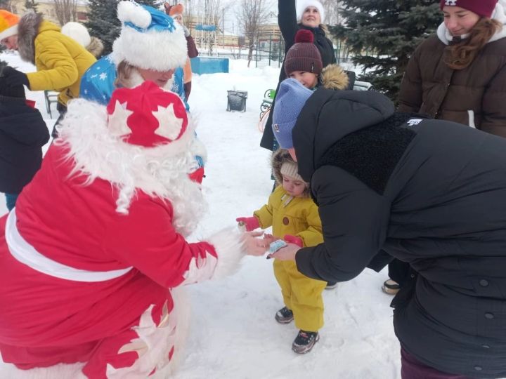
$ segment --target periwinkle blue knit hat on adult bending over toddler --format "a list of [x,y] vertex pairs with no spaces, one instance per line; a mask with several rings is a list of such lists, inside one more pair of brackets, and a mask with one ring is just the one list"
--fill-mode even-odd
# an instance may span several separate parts
[[297,80],[288,78],[281,82],[275,97],[273,113],[273,133],[282,149],[293,147],[292,130],[306,100],[313,91],[304,87]]

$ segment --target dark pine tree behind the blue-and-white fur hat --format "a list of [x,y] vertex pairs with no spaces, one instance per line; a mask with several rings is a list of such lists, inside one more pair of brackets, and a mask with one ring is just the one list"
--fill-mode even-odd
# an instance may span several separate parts
[[[138,0],[137,3],[160,8],[161,1]],[[88,1],[88,21],[84,25],[88,28],[91,36],[96,36],[103,41],[104,55],[112,51],[112,43],[119,36],[121,29],[116,13],[117,4],[118,0]]]

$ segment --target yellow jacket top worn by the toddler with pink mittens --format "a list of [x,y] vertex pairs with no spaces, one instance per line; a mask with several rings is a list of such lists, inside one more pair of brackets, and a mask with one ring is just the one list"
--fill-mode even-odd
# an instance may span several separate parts
[[285,205],[289,197],[283,186],[276,187],[268,203],[253,213],[260,227],[266,229],[272,225],[275,237],[283,238],[285,234],[300,237],[304,247],[323,243],[318,206],[313,199],[294,197]]

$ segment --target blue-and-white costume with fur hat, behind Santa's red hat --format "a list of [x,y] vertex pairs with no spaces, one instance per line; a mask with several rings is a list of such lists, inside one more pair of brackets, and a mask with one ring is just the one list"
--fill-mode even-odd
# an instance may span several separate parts
[[[122,22],[121,34],[112,45],[112,53],[100,58],[84,74],[81,97],[106,105],[116,88],[117,65],[125,60],[143,69],[160,72],[174,69],[172,79],[164,88],[177,93],[184,101],[183,67],[187,47],[183,27],[162,11],[134,1],[119,1],[117,15]],[[130,79],[130,88],[144,81],[136,70]],[[185,105],[188,109],[186,102]]]

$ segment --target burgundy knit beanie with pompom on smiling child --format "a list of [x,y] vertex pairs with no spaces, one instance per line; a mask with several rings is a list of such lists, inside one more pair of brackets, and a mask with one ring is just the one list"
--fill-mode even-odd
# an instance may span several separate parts
[[320,51],[313,44],[313,32],[300,29],[295,34],[295,44],[290,48],[285,57],[285,74],[290,76],[294,71],[312,72],[321,74],[323,63]]

